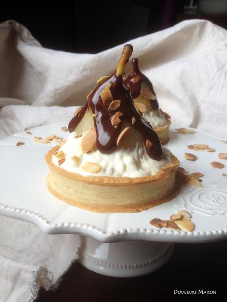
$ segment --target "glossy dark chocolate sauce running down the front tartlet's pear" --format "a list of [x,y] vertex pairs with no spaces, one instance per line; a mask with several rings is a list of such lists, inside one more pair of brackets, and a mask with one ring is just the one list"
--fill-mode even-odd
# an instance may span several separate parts
[[[116,110],[111,110],[109,105],[111,101],[103,103],[100,93],[104,90],[107,83],[111,82],[111,93],[114,100],[120,100],[120,106]],[[127,89],[123,87],[122,75],[117,75],[116,71],[113,75],[101,82],[94,91],[88,97],[88,101],[69,123],[69,132],[73,132],[81,121],[86,111],[92,110],[93,114],[97,114],[94,117],[94,126],[97,134],[96,146],[101,153],[110,153],[116,148],[117,137],[122,131],[120,125],[117,128],[111,124],[111,117],[117,112],[122,112],[120,120],[126,120],[131,127],[142,135],[144,144],[146,146],[146,140],[152,142],[152,148],[146,148],[148,155],[153,159],[158,159],[163,155],[163,149],[158,138],[158,135],[154,132],[151,124],[139,113],[135,107],[134,102]],[[132,125],[132,118],[135,117],[136,121]],[[130,130],[129,130],[130,131]]]

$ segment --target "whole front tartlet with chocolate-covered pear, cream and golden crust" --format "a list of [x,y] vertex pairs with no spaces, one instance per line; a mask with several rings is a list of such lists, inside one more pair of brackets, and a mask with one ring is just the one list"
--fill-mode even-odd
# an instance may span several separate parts
[[48,190],[58,199],[94,212],[139,212],[176,194],[178,159],[123,87],[132,53],[125,45],[114,74],[98,80],[69,123],[65,144],[46,155]]

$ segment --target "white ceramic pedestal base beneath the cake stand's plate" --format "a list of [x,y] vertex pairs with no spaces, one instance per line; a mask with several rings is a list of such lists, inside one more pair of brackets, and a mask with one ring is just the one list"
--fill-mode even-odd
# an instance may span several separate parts
[[163,266],[171,257],[174,244],[153,241],[103,243],[82,236],[79,263],[111,277],[137,277]]

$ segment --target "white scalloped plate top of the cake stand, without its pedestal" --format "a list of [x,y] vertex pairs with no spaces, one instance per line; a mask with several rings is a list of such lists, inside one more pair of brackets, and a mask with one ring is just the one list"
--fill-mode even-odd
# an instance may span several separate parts
[[[213,161],[227,166],[218,158],[227,153],[227,144],[204,132],[179,134],[171,126],[169,148],[189,173],[201,172],[203,188],[183,184],[172,201],[140,213],[93,213],[67,204],[52,196],[46,188],[48,167],[44,155],[57,142],[34,143],[34,136],[56,134],[67,138],[61,127],[67,122],[31,129],[0,141],[0,214],[38,225],[49,234],[80,234],[102,242],[151,240],[163,242],[204,242],[227,238],[227,167],[218,169]],[[24,145],[16,146],[16,143]],[[215,152],[189,150],[187,145],[207,144]],[[185,152],[195,154],[196,161],[184,158]],[[152,218],[168,220],[178,210],[191,213],[193,232],[157,229]]]

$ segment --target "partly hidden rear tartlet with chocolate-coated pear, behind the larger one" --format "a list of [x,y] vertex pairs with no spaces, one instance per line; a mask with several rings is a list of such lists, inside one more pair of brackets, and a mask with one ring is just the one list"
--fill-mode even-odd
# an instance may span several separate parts
[[124,79],[123,84],[130,91],[137,108],[158,134],[161,144],[164,145],[169,141],[170,116],[159,108],[153,85],[140,71],[138,59],[133,58],[131,65],[133,71]]

